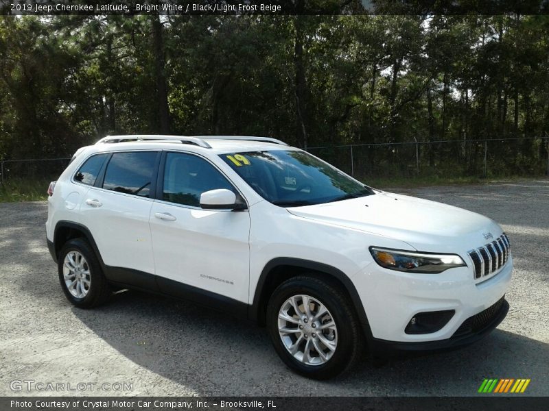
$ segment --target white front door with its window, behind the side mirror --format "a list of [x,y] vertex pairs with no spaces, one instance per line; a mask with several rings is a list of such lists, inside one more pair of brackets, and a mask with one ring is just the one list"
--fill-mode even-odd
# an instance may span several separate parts
[[238,191],[211,162],[191,153],[165,153],[159,173],[150,227],[161,290],[189,297],[198,288],[207,291],[205,301],[211,292],[248,303],[250,215],[202,210],[199,203],[208,190]]

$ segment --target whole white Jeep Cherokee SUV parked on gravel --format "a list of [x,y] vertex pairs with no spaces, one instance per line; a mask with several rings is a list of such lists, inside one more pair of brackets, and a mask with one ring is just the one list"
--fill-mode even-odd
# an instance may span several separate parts
[[272,138],[114,136],[49,187],[47,242],[71,303],[181,297],[266,325],[324,379],[472,343],[505,317],[513,262],[491,219],[375,190]]

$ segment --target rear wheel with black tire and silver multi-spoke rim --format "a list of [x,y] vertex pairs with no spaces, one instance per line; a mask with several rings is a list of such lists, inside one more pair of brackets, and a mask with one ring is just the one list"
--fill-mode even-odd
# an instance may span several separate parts
[[69,240],[62,247],[58,273],[65,296],[77,307],[99,306],[112,294],[97,256],[83,238]]

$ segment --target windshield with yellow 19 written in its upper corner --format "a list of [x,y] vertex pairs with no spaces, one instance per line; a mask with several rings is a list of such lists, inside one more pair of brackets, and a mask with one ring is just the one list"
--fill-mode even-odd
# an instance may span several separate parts
[[305,151],[250,151],[220,157],[257,194],[276,206],[309,206],[373,194],[370,188]]

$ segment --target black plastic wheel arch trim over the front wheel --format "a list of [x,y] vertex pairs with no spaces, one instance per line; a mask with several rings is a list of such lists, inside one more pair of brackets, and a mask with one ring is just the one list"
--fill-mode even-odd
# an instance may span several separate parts
[[372,338],[368,317],[358,292],[351,281],[340,269],[321,262],[302,260],[300,258],[274,258],[261,271],[255,288],[253,303],[248,316],[259,325],[265,325],[266,308],[270,295],[277,286],[287,279],[302,274],[314,274],[320,279],[338,284],[351,298],[353,308],[358,315],[366,340]]

